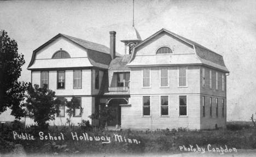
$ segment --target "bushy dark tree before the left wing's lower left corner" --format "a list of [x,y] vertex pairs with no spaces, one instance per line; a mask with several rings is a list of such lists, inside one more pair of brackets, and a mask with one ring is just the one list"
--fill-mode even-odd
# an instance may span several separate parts
[[55,119],[55,113],[59,105],[65,105],[65,101],[55,99],[55,92],[48,89],[48,85],[44,84],[43,88],[39,88],[38,84],[34,84],[34,88],[31,83],[27,89],[28,95],[26,100],[26,108],[30,114],[30,118],[34,119],[34,122],[38,126],[45,128],[48,126],[46,123],[48,120]]

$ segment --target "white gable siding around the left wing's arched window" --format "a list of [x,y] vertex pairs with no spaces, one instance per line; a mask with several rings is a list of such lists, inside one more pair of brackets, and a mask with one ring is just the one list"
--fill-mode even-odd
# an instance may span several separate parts
[[72,41],[60,37],[49,45],[43,47],[36,53],[36,59],[50,59],[53,57],[56,51],[59,51],[60,48],[69,53],[71,58],[75,57],[87,57],[85,49],[77,44],[74,44]]

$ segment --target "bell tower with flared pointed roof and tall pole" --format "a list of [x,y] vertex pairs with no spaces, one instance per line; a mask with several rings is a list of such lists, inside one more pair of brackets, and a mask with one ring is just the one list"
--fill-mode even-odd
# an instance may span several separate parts
[[133,0],[133,16],[132,16],[132,27],[127,31],[126,37],[121,42],[124,43],[125,46],[125,55],[131,55],[133,47],[135,47],[138,43],[140,43],[141,35],[139,35],[137,29],[134,27],[134,0]]

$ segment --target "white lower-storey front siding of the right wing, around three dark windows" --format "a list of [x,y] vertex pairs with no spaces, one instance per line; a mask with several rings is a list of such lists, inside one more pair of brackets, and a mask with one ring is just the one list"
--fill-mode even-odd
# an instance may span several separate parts
[[[142,117],[142,96],[151,96],[152,117]],[[160,117],[160,96],[131,95],[131,106],[121,107],[121,128],[124,129],[200,129],[200,95],[187,95],[188,117],[178,116],[179,95],[169,96],[170,117]],[[136,120],[134,120],[136,119]]]

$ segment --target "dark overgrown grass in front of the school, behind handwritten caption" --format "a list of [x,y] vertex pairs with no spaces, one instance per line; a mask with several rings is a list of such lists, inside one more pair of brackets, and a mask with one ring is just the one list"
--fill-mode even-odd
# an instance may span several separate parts
[[[155,130],[155,131],[111,131],[105,129],[82,129],[80,127],[53,126],[49,130],[43,131],[44,135],[50,133],[51,136],[63,134],[65,140],[39,140],[36,128],[19,127],[12,128],[6,126],[0,131],[0,152],[8,153],[13,149],[13,144],[22,144],[27,154],[144,154],[144,153],[181,153],[179,146],[192,146],[207,148],[208,144],[212,147],[234,147],[236,149],[256,149],[256,130],[249,124],[230,123],[227,129],[219,130],[184,130],[179,129]],[[36,140],[14,140],[13,131],[27,133],[36,136]],[[94,136],[110,137],[111,142],[102,144],[102,141],[73,140],[71,132],[77,135],[88,133]],[[124,139],[136,139],[139,144],[115,141],[114,134],[121,135]]]

